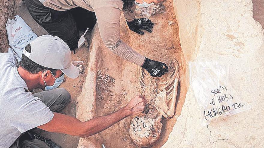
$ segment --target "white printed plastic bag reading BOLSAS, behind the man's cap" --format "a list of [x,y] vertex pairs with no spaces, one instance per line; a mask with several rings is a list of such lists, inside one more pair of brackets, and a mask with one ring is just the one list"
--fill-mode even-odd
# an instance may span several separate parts
[[8,42],[14,52],[21,60],[23,48],[38,36],[29,28],[26,22],[19,16],[15,19],[8,19],[6,26]]

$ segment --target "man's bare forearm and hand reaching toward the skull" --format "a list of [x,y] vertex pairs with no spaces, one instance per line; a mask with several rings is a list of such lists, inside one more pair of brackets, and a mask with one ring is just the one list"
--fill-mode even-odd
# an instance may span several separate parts
[[146,100],[139,96],[131,99],[127,106],[113,112],[110,115],[96,117],[91,120],[81,122],[80,120],[60,113],[54,113],[54,117],[48,123],[38,126],[38,128],[49,132],[64,133],[79,137],[88,137],[101,132],[120,120],[142,112],[145,108]]

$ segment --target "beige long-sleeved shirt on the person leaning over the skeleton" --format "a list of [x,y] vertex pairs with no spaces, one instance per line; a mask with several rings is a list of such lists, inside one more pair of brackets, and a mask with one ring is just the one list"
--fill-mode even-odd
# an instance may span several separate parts
[[[123,8],[122,0],[40,0],[43,5],[54,10],[65,11],[82,7],[95,12],[101,38],[107,48],[119,57],[142,66],[145,57],[134,51],[120,39],[120,16]],[[135,18],[133,11],[124,12],[125,18],[131,22]]]

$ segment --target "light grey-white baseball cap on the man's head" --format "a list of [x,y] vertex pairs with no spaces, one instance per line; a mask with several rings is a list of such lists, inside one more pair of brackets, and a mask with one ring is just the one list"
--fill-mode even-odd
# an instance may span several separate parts
[[61,70],[66,76],[75,79],[79,70],[71,63],[69,46],[58,36],[43,35],[30,42],[31,53],[24,48],[24,55],[33,62],[52,69]]

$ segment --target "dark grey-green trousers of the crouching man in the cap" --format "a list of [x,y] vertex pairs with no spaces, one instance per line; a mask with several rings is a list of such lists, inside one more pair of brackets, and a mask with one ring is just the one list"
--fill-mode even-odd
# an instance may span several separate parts
[[[60,111],[70,102],[70,93],[63,88],[41,91],[32,95],[40,98],[52,112]],[[9,148],[49,148],[44,141],[38,139],[25,141],[21,139],[23,139],[23,135],[21,135]]]

